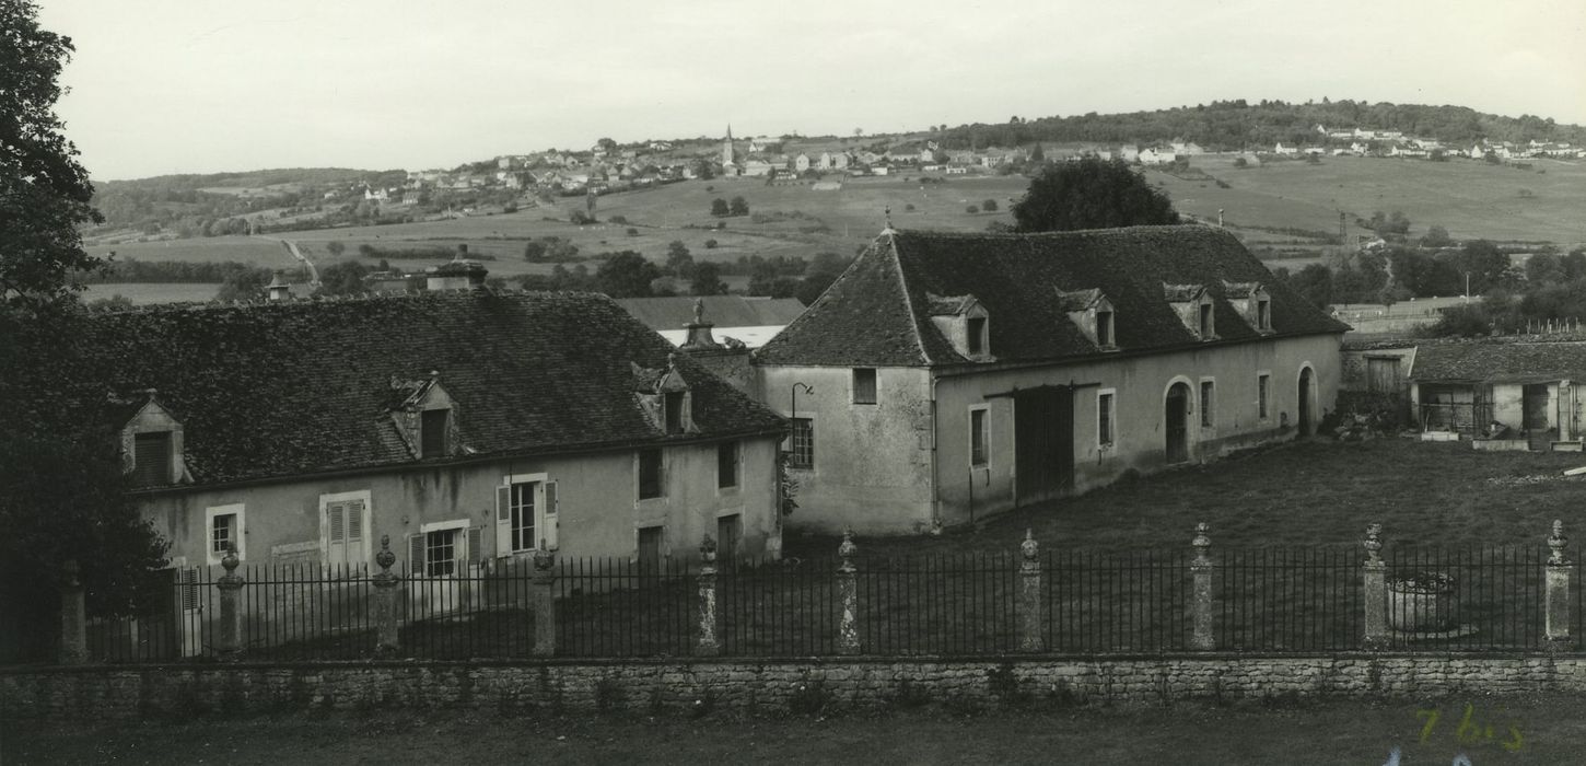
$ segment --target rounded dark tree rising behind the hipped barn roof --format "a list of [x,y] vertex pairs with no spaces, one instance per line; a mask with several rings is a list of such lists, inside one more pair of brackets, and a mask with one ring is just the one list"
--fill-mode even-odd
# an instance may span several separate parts
[[1013,203],[1013,220],[1020,232],[1074,232],[1177,224],[1178,214],[1123,160],[1085,157],[1042,170]]

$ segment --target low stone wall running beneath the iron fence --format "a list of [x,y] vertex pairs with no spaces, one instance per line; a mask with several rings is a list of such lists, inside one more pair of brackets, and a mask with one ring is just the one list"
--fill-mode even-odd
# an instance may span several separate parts
[[146,718],[341,709],[812,710],[999,699],[1435,698],[1586,691],[1586,655],[842,658],[316,663],[0,671],[0,718]]

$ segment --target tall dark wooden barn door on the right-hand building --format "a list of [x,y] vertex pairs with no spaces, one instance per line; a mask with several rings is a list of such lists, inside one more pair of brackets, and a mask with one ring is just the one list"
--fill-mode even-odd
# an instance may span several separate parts
[[1074,389],[1013,393],[1013,460],[1017,504],[1074,488]]

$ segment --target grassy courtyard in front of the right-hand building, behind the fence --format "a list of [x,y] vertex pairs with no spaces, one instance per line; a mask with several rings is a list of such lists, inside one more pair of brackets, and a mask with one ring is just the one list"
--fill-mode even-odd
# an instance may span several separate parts
[[[972,530],[858,542],[874,555],[1012,553],[1029,528],[1044,549],[1188,550],[1194,525],[1205,522],[1213,546],[1351,546],[1375,522],[1389,546],[1542,546],[1554,519],[1586,542],[1586,476],[1564,476],[1583,465],[1580,454],[1477,452],[1469,442],[1308,439],[1124,481]],[[790,533],[785,549],[831,555],[836,546]]]

